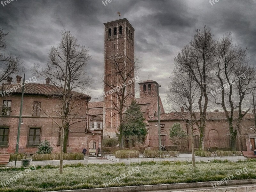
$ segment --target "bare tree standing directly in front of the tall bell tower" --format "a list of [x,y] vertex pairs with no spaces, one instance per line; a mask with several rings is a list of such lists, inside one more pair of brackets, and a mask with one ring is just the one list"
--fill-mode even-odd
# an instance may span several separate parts
[[[103,83],[105,90],[108,90],[105,95],[105,101],[110,101],[116,113],[113,116],[118,116],[120,125],[119,131],[119,148],[123,148],[124,136],[124,114],[127,107],[134,100],[134,73],[139,69],[139,59],[134,61],[126,59],[123,55],[113,56],[110,58],[112,68],[107,69],[104,75]],[[110,74],[110,75],[107,75]],[[111,77],[111,78],[109,78]],[[113,117],[112,116],[112,117]]]

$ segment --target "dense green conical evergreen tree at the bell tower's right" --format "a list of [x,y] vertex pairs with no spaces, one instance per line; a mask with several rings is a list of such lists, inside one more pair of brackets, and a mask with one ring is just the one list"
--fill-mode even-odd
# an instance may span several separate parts
[[139,104],[135,100],[132,100],[130,107],[126,110],[124,115],[124,136],[146,136],[148,130],[144,120],[145,118],[140,111]]

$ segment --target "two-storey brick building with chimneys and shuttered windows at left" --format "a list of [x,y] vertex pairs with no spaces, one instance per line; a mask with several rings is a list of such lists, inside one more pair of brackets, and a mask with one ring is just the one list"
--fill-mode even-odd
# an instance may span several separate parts
[[[17,76],[16,83],[12,84],[12,78],[8,78],[7,84],[0,86],[2,92],[17,86],[21,80],[21,77]],[[46,84],[29,83],[24,86],[19,152],[34,153],[38,144],[45,139],[51,142],[54,152],[60,151],[58,124],[61,123],[61,118],[57,113],[60,100],[53,97],[58,95],[59,89],[49,84],[49,80],[46,82]],[[15,152],[21,92],[20,87],[11,94],[0,97],[0,103],[3,104],[0,108],[0,153]],[[100,143],[100,132],[92,132],[87,127],[86,108],[90,99],[90,96],[83,94],[79,100],[83,106],[79,106],[77,123],[70,126],[67,152],[81,152],[84,147],[93,148],[95,144],[98,147]]]

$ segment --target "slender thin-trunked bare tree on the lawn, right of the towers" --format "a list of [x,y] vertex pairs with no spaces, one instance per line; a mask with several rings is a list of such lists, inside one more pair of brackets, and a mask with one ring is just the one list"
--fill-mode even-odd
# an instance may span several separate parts
[[[192,145],[192,163],[195,165],[195,149],[194,149],[194,131],[199,128],[198,121],[194,112],[198,110],[197,102],[200,98],[200,89],[198,83],[193,80],[193,75],[190,71],[193,65],[193,55],[190,52],[190,47],[186,45],[181,52],[174,58],[175,68],[172,72],[171,83],[169,84],[166,93],[167,102],[173,107],[183,107],[186,114],[175,113],[191,129],[191,145]],[[187,68],[183,68],[187,66]],[[189,115],[188,115],[189,114]]]

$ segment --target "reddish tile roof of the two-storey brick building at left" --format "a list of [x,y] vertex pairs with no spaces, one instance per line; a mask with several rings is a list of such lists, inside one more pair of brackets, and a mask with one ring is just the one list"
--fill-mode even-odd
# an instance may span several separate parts
[[[16,88],[15,88],[16,86]],[[2,85],[0,86],[0,92],[4,92],[6,90],[10,90],[11,88],[17,89],[13,90],[12,94],[20,94],[22,93],[21,84],[10,84],[10,85]],[[75,92],[74,92],[75,93]],[[28,83],[24,86],[24,94],[33,94],[33,95],[60,95],[60,87],[55,85],[46,85],[46,84],[38,84],[38,83]],[[88,97],[91,99],[89,95],[82,94],[84,97]]]

